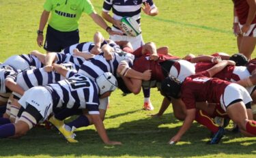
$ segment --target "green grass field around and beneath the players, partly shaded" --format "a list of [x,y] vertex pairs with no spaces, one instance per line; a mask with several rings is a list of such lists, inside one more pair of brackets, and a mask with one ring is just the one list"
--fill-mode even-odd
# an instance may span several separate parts
[[[169,46],[171,54],[211,54],[238,52],[232,34],[233,3],[231,0],[154,0],[159,15],[142,14],[145,42]],[[36,44],[44,0],[0,0],[0,62],[12,54],[40,50]],[[100,14],[102,0],[92,0]],[[81,42],[92,41],[95,31],[89,16],[80,20]],[[254,52],[255,53],[255,52]],[[256,57],[253,54],[253,57]],[[171,108],[160,118],[148,114],[158,112],[162,96],[152,89],[154,111],[144,111],[143,95],[122,96],[117,90],[111,96],[111,108],[104,124],[111,140],[122,146],[106,146],[94,127],[76,132],[78,144],[67,144],[55,129],[35,128],[20,139],[0,140],[0,157],[256,157],[255,138],[242,138],[227,131],[222,142],[206,144],[210,132],[194,123],[193,127],[175,146],[167,144],[182,125]]]

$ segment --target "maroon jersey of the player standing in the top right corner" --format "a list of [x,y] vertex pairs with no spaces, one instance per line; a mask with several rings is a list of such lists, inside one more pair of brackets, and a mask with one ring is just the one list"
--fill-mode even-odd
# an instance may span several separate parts
[[[246,0],[233,0],[234,7],[236,9],[236,14],[238,15],[238,20],[241,25],[246,23],[248,16],[249,5]],[[251,24],[256,23],[256,16]]]

